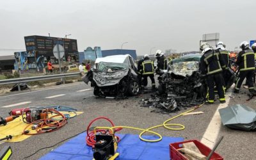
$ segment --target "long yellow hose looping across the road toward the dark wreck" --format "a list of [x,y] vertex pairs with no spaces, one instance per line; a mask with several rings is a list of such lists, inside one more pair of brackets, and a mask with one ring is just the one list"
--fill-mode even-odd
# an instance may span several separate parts
[[[171,120],[175,119],[175,118],[178,118],[179,116],[182,116],[186,113],[189,113],[191,111],[194,111],[195,109],[197,108],[200,108],[201,106],[203,106],[204,104],[201,104],[200,106],[195,106],[193,109],[190,109],[184,113],[180,113],[179,115],[177,116],[173,116],[172,118],[166,120],[163,122],[163,124],[161,125],[156,125],[156,126],[153,126],[153,127],[150,127],[148,129],[141,129],[141,128],[137,128],[137,127],[129,127],[129,126],[115,126],[115,127],[95,127],[94,131],[96,131],[96,129],[109,129],[111,130],[112,132],[114,131],[115,128],[125,128],[125,129],[135,129],[135,130],[139,130],[139,131],[142,131],[140,133],[140,140],[141,141],[147,141],[147,142],[157,142],[157,141],[161,141],[163,139],[163,136],[161,136],[161,134],[157,133],[157,132],[154,132],[154,131],[150,131],[152,129],[156,129],[158,127],[164,127],[166,129],[169,129],[169,130],[172,130],[172,131],[179,131],[179,130],[182,130],[182,129],[185,129],[185,126],[182,125],[182,124],[167,124],[168,122],[170,122]],[[173,127],[168,127],[168,126],[179,126],[180,128],[173,128]],[[146,140],[144,138],[142,138],[142,135],[145,133],[145,132],[150,132],[152,134],[155,134],[156,136],[158,136],[159,138],[157,140]]]

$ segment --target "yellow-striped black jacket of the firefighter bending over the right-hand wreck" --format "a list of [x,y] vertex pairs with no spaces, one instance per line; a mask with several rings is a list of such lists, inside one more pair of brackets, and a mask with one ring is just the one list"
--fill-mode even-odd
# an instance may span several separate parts
[[225,65],[220,52],[216,52],[213,49],[205,52],[200,61],[200,70],[202,74],[207,75],[222,72],[221,66]]

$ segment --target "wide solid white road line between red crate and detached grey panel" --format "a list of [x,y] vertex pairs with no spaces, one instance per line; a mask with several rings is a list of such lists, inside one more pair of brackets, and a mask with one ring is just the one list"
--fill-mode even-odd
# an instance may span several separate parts
[[[218,138],[218,134],[220,132],[220,127],[221,127],[221,117],[219,113],[219,109],[221,108],[226,108],[228,106],[231,92],[226,94],[226,102],[224,104],[220,104],[218,108],[216,109],[214,115],[212,116],[212,120],[210,124],[208,125],[204,136],[201,140],[202,143],[204,143],[207,147],[213,148],[214,144]],[[211,106],[210,106],[211,107]]]

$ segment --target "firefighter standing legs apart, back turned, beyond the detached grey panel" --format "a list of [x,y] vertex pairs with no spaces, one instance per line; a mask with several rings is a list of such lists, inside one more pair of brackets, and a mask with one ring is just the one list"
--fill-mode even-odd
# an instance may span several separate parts
[[239,65],[239,78],[236,82],[234,93],[239,93],[241,84],[246,77],[250,92],[254,92],[253,76],[255,72],[255,53],[249,48],[249,43],[244,41],[240,44],[242,51],[237,56],[237,65]]

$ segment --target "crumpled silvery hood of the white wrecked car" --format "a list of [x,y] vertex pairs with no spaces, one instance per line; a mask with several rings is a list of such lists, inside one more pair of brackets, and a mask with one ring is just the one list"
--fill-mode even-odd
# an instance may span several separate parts
[[97,86],[112,86],[118,84],[120,80],[126,76],[129,68],[124,70],[116,70],[113,72],[97,72],[93,71],[93,80]]

